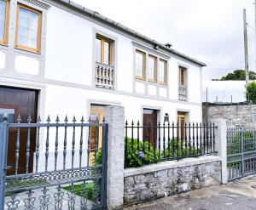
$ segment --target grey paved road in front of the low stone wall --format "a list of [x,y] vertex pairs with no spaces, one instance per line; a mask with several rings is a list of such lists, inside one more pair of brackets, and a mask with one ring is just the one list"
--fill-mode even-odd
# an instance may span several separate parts
[[256,177],[169,196],[126,210],[256,210]]

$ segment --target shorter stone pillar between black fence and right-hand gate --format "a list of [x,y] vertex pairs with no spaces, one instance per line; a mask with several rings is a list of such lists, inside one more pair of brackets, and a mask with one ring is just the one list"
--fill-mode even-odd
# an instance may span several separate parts
[[227,122],[224,119],[212,120],[218,127],[215,129],[215,145],[217,156],[221,157],[221,176],[222,184],[228,183],[228,168],[227,168]]

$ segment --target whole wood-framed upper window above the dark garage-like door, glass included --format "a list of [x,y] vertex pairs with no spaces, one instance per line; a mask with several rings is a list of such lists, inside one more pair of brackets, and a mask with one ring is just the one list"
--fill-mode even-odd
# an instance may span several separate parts
[[42,13],[18,4],[16,21],[16,48],[40,52]]

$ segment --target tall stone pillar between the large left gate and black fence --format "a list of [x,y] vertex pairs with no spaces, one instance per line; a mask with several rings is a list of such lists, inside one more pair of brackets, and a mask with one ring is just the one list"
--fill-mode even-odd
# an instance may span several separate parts
[[108,209],[123,207],[125,162],[125,110],[123,106],[109,105],[105,109],[108,123]]

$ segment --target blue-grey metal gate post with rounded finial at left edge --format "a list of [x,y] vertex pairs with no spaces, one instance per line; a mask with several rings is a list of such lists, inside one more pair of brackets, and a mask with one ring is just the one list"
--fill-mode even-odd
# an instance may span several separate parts
[[3,122],[0,123],[0,209],[4,209],[5,199],[5,168],[7,161],[8,144],[8,115],[3,114]]

